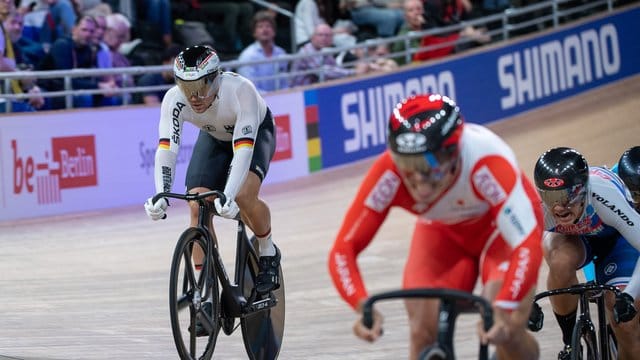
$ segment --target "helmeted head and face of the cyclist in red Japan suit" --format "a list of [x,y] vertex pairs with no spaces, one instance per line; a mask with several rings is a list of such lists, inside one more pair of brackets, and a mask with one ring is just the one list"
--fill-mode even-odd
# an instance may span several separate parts
[[396,105],[389,118],[388,144],[400,170],[437,182],[455,170],[464,121],[450,98],[415,95]]

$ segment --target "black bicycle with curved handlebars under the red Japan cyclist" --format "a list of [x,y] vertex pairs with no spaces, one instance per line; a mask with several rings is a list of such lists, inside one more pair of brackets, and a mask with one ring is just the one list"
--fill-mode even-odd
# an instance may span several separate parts
[[[420,352],[418,356],[420,360],[454,360],[456,358],[453,339],[456,319],[460,314],[479,313],[485,331],[493,326],[493,309],[487,299],[468,292],[443,288],[402,289],[370,296],[362,308],[362,323],[369,329],[373,326],[374,303],[399,298],[440,299],[437,339],[434,344],[427,346]],[[489,359],[487,344],[480,344],[478,359]]]

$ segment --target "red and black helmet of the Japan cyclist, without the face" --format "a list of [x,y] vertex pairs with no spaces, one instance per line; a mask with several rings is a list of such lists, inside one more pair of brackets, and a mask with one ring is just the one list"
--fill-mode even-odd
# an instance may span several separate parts
[[457,147],[462,126],[453,100],[437,94],[412,96],[391,113],[389,148],[398,155],[418,155]]

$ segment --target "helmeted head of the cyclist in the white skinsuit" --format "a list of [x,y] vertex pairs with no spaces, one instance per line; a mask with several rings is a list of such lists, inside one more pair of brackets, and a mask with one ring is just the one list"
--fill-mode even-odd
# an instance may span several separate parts
[[206,98],[218,91],[220,58],[209,46],[191,46],[181,51],[173,64],[176,84],[186,97]]

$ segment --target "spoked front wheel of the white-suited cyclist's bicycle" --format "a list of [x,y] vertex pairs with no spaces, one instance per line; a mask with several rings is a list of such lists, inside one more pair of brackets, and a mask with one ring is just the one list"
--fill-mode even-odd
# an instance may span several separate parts
[[[194,246],[205,252],[201,270],[191,258]],[[169,279],[171,331],[180,358],[208,360],[220,329],[218,279],[202,234],[187,229],[176,244]]]

